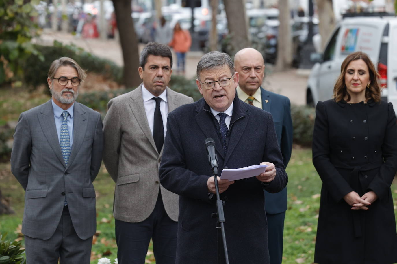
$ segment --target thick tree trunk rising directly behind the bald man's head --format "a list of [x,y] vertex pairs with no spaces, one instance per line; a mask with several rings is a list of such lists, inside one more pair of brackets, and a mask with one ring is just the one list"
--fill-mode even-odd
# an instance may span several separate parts
[[245,0],[224,1],[227,18],[227,28],[231,35],[230,56],[251,46],[251,39],[248,34],[247,13],[245,11]]

